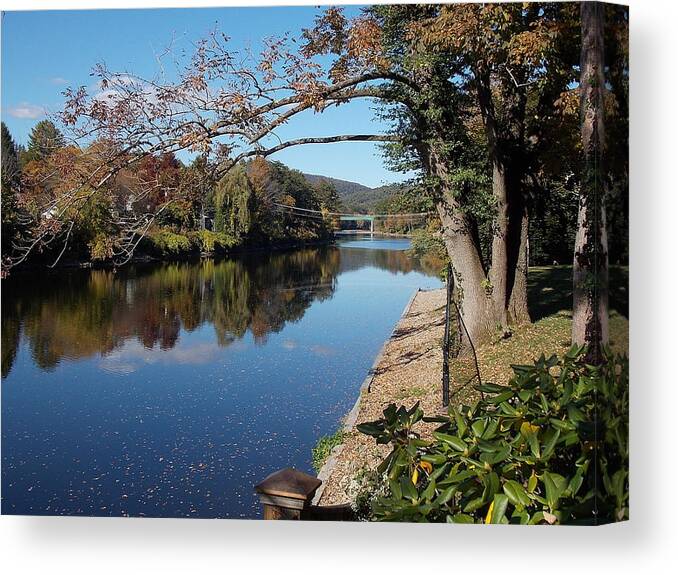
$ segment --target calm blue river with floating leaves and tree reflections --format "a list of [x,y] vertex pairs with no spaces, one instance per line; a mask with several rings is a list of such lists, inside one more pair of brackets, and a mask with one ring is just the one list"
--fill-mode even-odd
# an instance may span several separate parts
[[353,405],[408,240],[2,280],[2,512],[257,517]]

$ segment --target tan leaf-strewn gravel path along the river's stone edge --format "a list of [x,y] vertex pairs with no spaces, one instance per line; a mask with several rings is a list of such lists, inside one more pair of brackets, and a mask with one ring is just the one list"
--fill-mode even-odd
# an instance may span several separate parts
[[375,467],[388,454],[387,447],[355,431],[354,423],[380,418],[389,403],[410,407],[419,401],[426,414],[440,411],[444,317],[445,289],[417,292],[386,342],[356,410],[349,414],[343,445],[334,449],[318,474],[323,486],[317,503],[348,502],[356,472]]

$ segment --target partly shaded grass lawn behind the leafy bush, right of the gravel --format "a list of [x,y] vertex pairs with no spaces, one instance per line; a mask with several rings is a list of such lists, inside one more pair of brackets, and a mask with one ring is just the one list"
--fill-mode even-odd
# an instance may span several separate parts
[[[570,348],[572,331],[572,266],[531,267],[528,302],[533,323],[517,327],[505,340],[480,346],[478,366],[483,382],[506,383],[513,375],[511,365],[527,364],[542,353],[562,354]],[[610,269],[610,345],[628,353],[628,268]],[[450,363],[452,402],[472,399],[471,386],[462,388],[475,374],[472,358]],[[452,382],[451,382],[452,383]],[[455,389],[456,388],[456,389]]]

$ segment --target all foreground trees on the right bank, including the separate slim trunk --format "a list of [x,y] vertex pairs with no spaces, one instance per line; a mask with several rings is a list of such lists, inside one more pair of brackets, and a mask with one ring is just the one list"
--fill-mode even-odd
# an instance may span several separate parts
[[[627,253],[626,7],[371,6],[352,18],[331,7],[297,36],[267,39],[260,54],[238,53],[215,32],[175,82],[105,65],[94,73],[108,100],[69,89],[61,119],[74,138],[112,145],[54,203],[57,217],[34,228],[30,249],[67,239],[69,209],[96,202],[139,157],[190,149],[212,159],[217,179],[236,179],[244,162],[292,146],[382,142],[388,164],[414,170],[416,193],[438,214],[467,340],[530,321],[531,244],[564,233],[575,240],[573,341],[600,357],[609,254],[623,263]],[[302,112],[362,98],[380,103],[387,132],[272,137]],[[129,250],[147,222],[121,226],[113,244]]]

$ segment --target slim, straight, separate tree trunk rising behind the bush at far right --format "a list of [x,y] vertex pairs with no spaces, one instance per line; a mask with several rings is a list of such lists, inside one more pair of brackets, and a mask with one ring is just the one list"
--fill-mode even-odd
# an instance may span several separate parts
[[604,5],[582,2],[581,138],[584,153],[574,246],[572,342],[587,345],[589,362],[602,361],[608,341],[607,223],[603,179]]

